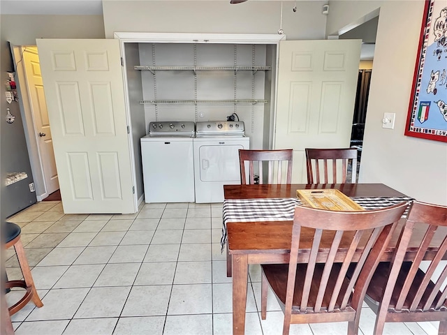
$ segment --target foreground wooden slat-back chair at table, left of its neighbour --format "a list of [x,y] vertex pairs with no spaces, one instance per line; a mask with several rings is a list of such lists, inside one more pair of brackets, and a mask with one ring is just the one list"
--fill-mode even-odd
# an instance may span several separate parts
[[[402,202],[372,211],[297,206],[288,264],[261,265],[261,318],[267,315],[270,285],[284,312],[283,334],[295,323],[343,321],[349,322],[348,334],[357,334],[356,315],[368,281],[407,206]],[[312,248],[298,254],[304,240],[312,241]],[[352,262],[356,267],[349,280]]]

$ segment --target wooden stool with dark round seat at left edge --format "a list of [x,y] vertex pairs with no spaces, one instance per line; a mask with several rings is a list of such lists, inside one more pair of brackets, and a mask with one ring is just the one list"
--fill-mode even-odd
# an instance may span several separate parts
[[28,261],[25,256],[22,240],[20,239],[20,226],[15,223],[3,222],[2,223],[3,234],[6,240],[6,249],[14,246],[17,259],[19,260],[20,269],[22,270],[22,281],[6,281],[5,288],[24,288],[27,290],[25,295],[17,301],[16,304],[8,308],[9,314],[13,315],[20,311],[28,302],[32,299],[34,304],[38,307],[42,307],[41,298],[39,298],[36,286],[34,286],[33,277],[31,276],[31,270],[29,269]]

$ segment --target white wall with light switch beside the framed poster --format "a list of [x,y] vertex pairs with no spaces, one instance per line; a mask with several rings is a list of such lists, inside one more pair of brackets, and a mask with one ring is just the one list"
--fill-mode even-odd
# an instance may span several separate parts
[[[328,34],[380,6],[360,181],[447,204],[447,144],[404,136],[424,1],[335,1],[330,6],[335,17],[328,18]],[[393,130],[381,128],[383,112],[396,113]]]

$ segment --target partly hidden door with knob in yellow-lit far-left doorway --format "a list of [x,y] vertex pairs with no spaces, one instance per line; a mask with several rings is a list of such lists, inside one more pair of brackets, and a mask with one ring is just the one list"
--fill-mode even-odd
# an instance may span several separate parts
[[[29,92],[29,105],[36,129],[39,158],[41,161],[43,180],[45,181],[45,197],[59,190],[50,121],[48,120],[47,104],[43,91],[41,66],[37,47],[26,47],[23,52],[25,76]],[[43,197],[43,198],[45,198]]]

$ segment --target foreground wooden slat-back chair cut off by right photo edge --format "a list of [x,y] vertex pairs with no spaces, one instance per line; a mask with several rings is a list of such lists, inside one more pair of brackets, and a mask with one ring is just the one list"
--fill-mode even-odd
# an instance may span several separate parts
[[[413,234],[416,226],[424,227],[424,236]],[[402,262],[409,241],[419,246],[413,262]],[[440,321],[438,334],[447,334],[447,265],[440,263],[447,251],[447,207],[413,202],[397,243],[393,260],[380,263],[367,289],[365,302],[376,313],[374,334],[382,334],[385,322],[418,321]],[[430,253],[432,260],[423,261]]]

